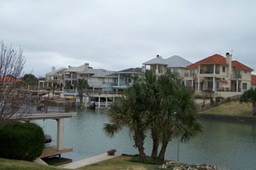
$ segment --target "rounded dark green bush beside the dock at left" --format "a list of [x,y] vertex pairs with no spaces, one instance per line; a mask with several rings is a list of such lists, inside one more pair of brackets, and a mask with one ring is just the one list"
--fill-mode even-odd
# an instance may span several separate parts
[[0,129],[0,156],[32,161],[44,149],[44,132],[34,123],[12,122]]

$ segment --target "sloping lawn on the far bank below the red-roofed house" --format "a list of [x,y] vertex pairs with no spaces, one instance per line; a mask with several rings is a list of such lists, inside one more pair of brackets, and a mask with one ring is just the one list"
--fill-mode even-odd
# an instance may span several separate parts
[[224,116],[253,116],[251,103],[240,103],[232,101],[212,107],[206,111],[201,111],[200,114],[224,115]]

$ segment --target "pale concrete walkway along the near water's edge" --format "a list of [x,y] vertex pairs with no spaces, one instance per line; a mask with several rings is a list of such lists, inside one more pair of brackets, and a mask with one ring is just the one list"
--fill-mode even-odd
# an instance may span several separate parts
[[67,163],[65,165],[61,165],[60,167],[67,168],[67,169],[76,169],[76,168],[79,168],[79,167],[84,167],[84,166],[87,166],[87,165],[90,165],[90,164],[94,164],[94,163],[99,162],[99,161],[105,161],[105,160],[108,160],[108,159],[112,159],[114,157],[116,157],[116,156],[108,156],[108,154],[105,153],[105,154],[102,154],[102,155],[99,155],[99,156],[93,156],[93,157],[85,158],[85,159],[80,160],[80,161],[73,161],[72,163]]

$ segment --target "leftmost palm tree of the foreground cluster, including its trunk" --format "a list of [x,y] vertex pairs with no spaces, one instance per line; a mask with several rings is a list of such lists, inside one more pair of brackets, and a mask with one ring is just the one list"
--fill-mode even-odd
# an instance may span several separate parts
[[146,156],[143,148],[146,130],[143,126],[143,111],[146,107],[144,97],[143,86],[136,80],[130,88],[125,89],[124,97],[112,105],[108,112],[110,123],[104,127],[104,131],[111,137],[123,127],[128,127],[140,157]]

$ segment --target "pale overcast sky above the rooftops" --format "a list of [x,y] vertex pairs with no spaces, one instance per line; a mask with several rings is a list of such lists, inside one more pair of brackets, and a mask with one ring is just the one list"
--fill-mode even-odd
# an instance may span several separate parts
[[26,56],[25,72],[90,63],[119,71],[156,54],[191,62],[233,54],[256,70],[256,1],[0,1],[0,39]]

